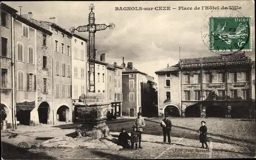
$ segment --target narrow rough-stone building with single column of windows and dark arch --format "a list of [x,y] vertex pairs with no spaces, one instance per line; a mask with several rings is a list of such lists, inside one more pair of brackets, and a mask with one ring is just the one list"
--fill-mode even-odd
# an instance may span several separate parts
[[36,66],[35,85],[36,85],[36,102],[35,109],[31,112],[30,125],[39,123],[53,123],[53,64],[52,64],[52,32],[50,26],[38,20],[33,19],[32,12],[22,16],[31,24],[40,26],[37,29],[35,39],[35,54],[29,50],[30,63]]

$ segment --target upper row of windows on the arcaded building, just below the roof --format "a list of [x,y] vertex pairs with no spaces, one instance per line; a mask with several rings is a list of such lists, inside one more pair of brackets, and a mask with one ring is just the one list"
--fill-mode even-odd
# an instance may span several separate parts
[[[229,82],[237,82],[238,81],[237,72],[229,72]],[[183,75],[183,82],[184,84],[190,84],[190,74]],[[200,74],[194,74],[194,84],[200,83]],[[247,82],[248,75],[246,72],[241,72],[240,82]],[[218,83],[225,83],[225,74],[224,73],[217,73],[217,82]],[[167,83],[167,82],[166,82]],[[204,83],[212,83],[212,74],[211,73],[204,73]]]

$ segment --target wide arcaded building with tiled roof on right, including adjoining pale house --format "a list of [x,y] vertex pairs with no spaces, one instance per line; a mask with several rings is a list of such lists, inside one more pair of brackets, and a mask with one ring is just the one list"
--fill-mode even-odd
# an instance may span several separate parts
[[251,70],[245,54],[183,59],[159,70],[159,115],[251,117]]

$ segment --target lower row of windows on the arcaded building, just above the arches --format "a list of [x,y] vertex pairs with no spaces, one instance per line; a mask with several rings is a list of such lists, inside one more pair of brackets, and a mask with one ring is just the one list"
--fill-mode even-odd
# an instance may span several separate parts
[[[166,92],[166,97],[170,98],[170,92],[167,94]],[[224,90],[219,90],[217,92],[218,95],[218,100],[225,100],[225,91]],[[242,99],[247,100],[249,96],[249,92],[248,90],[244,89],[242,90]],[[237,90],[230,90],[229,91],[229,97],[233,98],[233,99],[237,99],[238,94],[237,94]],[[184,99],[185,100],[191,100],[190,97],[190,91],[184,91]],[[212,91],[205,91],[205,99],[207,100],[212,100]],[[200,91],[194,91],[194,99],[193,100],[201,100],[201,92]]]

